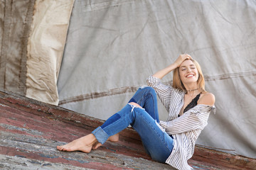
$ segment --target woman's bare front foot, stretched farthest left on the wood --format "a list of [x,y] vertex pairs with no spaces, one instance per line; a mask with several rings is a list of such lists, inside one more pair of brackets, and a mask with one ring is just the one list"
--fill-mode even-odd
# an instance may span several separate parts
[[97,143],[95,135],[89,134],[84,137],[80,137],[78,140],[73,140],[67,145],[57,146],[57,149],[60,151],[82,151],[89,153],[92,150],[92,146]]

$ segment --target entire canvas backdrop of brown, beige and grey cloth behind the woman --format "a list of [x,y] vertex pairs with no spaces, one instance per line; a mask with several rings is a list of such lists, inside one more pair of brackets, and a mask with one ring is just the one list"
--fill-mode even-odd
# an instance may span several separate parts
[[73,2],[1,1],[0,89],[105,120],[188,53],[217,108],[197,144],[256,158],[256,1]]

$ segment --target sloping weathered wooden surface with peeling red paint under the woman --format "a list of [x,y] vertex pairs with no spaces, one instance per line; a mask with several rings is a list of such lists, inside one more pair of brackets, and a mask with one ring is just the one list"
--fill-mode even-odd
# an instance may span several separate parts
[[[89,134],[104,121],[58,106],[0,91],[0,169],[174,169],[144,152],[137,132],[127,128],[119,142],[90,154],[60,152],[57,145]],[[194,169],[256,169],[256,160],[196,147]]]

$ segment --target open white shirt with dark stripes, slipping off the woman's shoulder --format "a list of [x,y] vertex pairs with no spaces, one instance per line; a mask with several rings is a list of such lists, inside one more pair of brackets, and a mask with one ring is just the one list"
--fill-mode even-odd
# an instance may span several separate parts
[[215,106],[198,104],[178,117],[184,105],[185,92],[161,83],[156,77],[149,77],[147,84],[155,89],[169,113],[166,122],[159,123],[167,134],[174,137],[174,149],[166,163],[176,169],[192,169],[187,161],[193,156],[196,140],[206,127],[210,111],[215,110]]

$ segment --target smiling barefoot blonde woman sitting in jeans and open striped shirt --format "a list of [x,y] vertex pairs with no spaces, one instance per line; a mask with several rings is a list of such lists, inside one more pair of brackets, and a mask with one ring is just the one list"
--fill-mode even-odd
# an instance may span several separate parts
[[[171,71],[173,84],[166,86],[161,79]],[[207,125],[210,111],[215,108],[214,95],[205,90],[201,67],[190,55],[180,55],[176,62],[149,77],[147,83],[149,86],[139,88],[127,106],[90,135],[57,149],[89,153],[107,140],[117,142],[118,132],[132,125],[152,159],[176,169],[191,169],[187,161]],[[165,122],[159,121],[156,94],[169,113]]]

